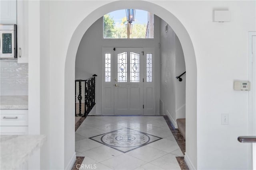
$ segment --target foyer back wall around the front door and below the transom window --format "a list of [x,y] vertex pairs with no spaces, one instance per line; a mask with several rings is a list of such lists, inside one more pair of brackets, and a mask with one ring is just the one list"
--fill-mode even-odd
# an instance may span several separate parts
[[103,39],[103,18],[98,19],[84,34],[76,54],[76,79],[96,77],[96,113],[102,113],[102,47],[155,47],[156,49],[156,112],[159,113],[159,18],[155,16],[154,39]]

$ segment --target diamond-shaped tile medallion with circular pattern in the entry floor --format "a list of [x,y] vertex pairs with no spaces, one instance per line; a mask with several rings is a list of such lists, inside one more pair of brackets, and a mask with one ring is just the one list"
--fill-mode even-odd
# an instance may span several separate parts
[[162,138],[140,131],[135,131],[130,128],[122,128],[116,131],[90,137],[89,139],[126,153],[156,142]]

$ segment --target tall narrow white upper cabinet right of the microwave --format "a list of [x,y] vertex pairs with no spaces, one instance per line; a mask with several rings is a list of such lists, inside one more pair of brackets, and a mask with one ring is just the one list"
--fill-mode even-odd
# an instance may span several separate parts
[[28,63],[28,1],[17,1],[18,63]]

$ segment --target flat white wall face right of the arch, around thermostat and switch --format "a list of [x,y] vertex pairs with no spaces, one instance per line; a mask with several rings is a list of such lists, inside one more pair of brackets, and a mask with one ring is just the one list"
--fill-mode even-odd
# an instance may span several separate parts
[[[212,10],[221,7],[230,10],[230,22],[212,22]],[[248,169],[248,145],[237,141],[248,135],[248,92],[232,86],[234,79],[248,79],[255,1],[187,2],[173,10],[189,9],[196,13],[181,21],[189,27],[197,59],[198,169]],[[221,125],[222,113],[229,114],[229,125]]]

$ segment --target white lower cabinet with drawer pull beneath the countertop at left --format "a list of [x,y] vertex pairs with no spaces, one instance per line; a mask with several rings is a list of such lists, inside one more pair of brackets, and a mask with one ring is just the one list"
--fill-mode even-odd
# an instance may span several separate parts
[[28,110],[1,110],[0,135],[27,135]]

